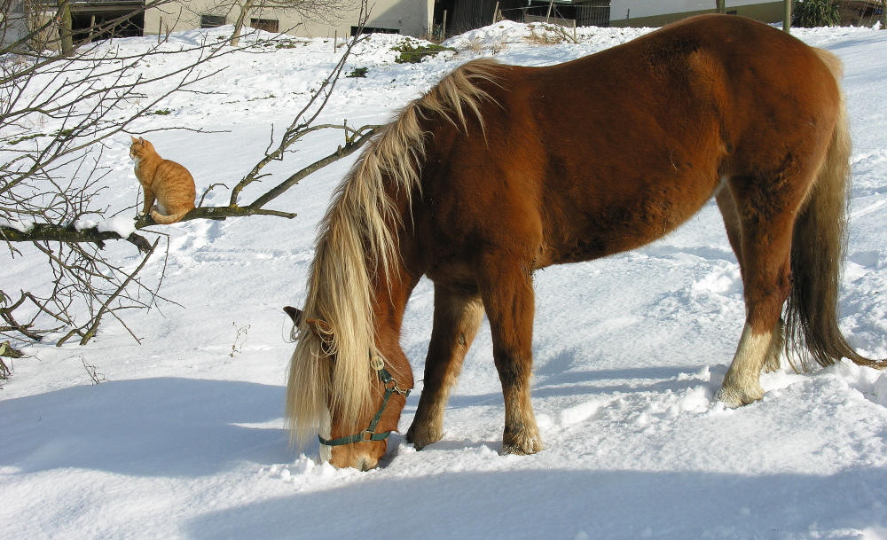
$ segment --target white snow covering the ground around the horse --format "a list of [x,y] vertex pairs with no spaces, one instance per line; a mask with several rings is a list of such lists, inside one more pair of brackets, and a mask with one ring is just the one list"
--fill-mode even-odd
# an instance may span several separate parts
[[[225,31],[174,34],[164,47]],[[342,79],[319,121],[385,121],[476,55],[545,65],[647,31],[582,29],[577,44],[542,46],[525,39],[539,30],[498,23],[451,40],[458,53],[408,65],[390,51],[401,38],[375,35],[346,67],[368,67],[367,76]],[[844,59],[855,150],[840,324],[862,353],[885,357],[887,32],[795,33]],[[152,41],[113,46],[134,52]],[[208,69],[224,70],[192,89],[213,94],[164,98],[157,109],[170,113],[147,116],[133,134],[188,167],[199,193],[233,185],[261,159],[271,126],[279,135],[341,54],[330,40],[282,43],[219,59]],[[188,54],[151,57],[140,69],[174,71]],[[98,165],[112,171],[101,202],[117,214],[103,226],[123,234],[139,187],[129,135],[117,138]],[[242,200],[340,144],[339,132],[306,137]],[[165,264],[161,293],[180,305],[126,314],[140,345],[108,320],[87,346],[25,348],[31,356],[15,361],[0,391],[0,537],[887,538],[887,374],[852,364],[783,370],[762,377],[758,403],[731,410],[713,401],[744,309],[713,203],[654,245],[538,273],[533,405],[546,450],[498,453],[503,403],[485,326],[441,442],[416,451],[392,434],[389,457],[368,473],[321,464],[317,442],[289,448],[282,407],[293,344],[281,308],[301,305],[316,225],[354,159],[271,205],[294,220],[164,227],[169,259],[153,257],[145,272],[160,276]],[[210,192],[208,204],[225,204],[224,193]],[[3,255],[4,284],[45,288],[51,278],[22,250]],[[125,242],[106,250],[138,262]],[[421,391],[432,304],[423,281],[404,319],[418,381],[403,430]]]

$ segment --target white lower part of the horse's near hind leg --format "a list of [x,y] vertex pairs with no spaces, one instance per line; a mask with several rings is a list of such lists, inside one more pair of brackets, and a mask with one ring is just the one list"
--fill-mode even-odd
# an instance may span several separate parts
[[728,407],[739,407],[755,402],[764,395],[760,382],[761,366],[772,341],[773,332],[756,334],[751,331],[750,325],[745,325],[739,347],[716,399]]

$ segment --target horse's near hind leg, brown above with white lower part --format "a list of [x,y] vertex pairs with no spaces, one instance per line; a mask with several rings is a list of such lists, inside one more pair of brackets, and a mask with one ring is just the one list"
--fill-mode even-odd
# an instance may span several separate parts
[[[804,190],[777,192],[765,181],[734,178],[730,194],[734,216],[725,212],[726,197],[718,195],[718,206],[725,214],[731,244],[742,268],[746,322],[733,362],[726,372],[718,399],[737,407],[764,395],[760,373],[765,364],[778,362],[781,348],[781,310],[789,297],[791,277],[789,254],[794,215]],[[736,234],[731,221],[738,222]],[[738,249],[737,249],[738,247]]]

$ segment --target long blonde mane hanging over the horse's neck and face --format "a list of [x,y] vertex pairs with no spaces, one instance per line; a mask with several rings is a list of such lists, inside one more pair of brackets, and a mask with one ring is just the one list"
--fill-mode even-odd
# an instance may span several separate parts
[[[336,190],[319,225],[300,337],[289,369],[287,420],[300,444],[317,433],[327,396],[346,422],[365,415],[373,384],[369,355],[375,351],[373,276],[381,271],[389,279],[399,258],[397,233],[389,223],[400,223],[401,216],[386,190],[393,187],[412,200],[413,190],[421,189],[426,132],[420,121],[429,113],[464,127],[467,107],[483,126],[480,104],[487,94],[476,82],[494,79],[497,66],[491,59],[469,62],[405,106],[380,129]],[[312,318],[326,321],[331,332],[320,337],[311,331],[305,320]],[[354,433],[363,428],[346,427]]]

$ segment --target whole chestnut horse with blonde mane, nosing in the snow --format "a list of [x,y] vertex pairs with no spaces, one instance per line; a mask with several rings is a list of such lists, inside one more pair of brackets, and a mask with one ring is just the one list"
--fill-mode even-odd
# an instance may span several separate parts
[[413,385],[398,339],[427,276],[434,330],[407,441],[442,437],[486,313],[503,451],[542,450],[533,272],[643,246],[712,197],[746,306],[717,398],[759,399],[759,375],[783,348],[797,368],[880,365],[836,322],[851,148],[840,77],[831,53],[718,15],[558,66],[457,68],[381,128],[320,225],[304,312],[292,310],[294,439],[319,432],[334,466],[378,464]]

